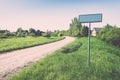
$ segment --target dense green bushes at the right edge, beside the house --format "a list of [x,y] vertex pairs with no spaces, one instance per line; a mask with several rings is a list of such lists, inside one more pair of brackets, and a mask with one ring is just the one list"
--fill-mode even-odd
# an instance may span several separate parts
[[97,37],[103,41],[106,41],[112,45],[120,47],[120,28],[104,28],[99,32]]

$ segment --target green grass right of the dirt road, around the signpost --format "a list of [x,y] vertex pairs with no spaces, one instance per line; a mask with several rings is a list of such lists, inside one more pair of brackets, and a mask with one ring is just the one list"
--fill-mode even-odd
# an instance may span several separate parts
[[120,80],[120,49],[91,38],[88,67],[87,38],[76,39],[8,80]]

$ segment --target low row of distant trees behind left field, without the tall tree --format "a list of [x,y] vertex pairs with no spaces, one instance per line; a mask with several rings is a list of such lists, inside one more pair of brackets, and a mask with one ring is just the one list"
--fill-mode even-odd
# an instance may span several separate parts
[[10,38],[10,37],[27,37],[27,36],[33,36],[33,37],[51,37],[51,36],[63,36],[61,34],[63,31],[55,30],[55,31],[41,31],[36,30],[34,28],[29,28],[29,30],[23,30],[22,28],[18,28],[15,32],[10,32],[9,30],[0,30],[0,38]]

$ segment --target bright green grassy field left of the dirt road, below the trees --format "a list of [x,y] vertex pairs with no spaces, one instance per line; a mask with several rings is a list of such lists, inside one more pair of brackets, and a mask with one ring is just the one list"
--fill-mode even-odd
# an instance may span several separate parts
[[63,39],[63,37],[27,37],[0,39],[0,53],[50,43],[61,39]]

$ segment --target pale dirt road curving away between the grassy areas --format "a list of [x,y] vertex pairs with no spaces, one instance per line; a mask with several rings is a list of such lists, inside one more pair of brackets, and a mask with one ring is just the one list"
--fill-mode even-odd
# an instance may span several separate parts
[[0,80],[4,80],[6,77],[18,72],[31,63],[46,57],[73,40],[74,38],[72,37],[66,37],[54,43],[0,54]]

